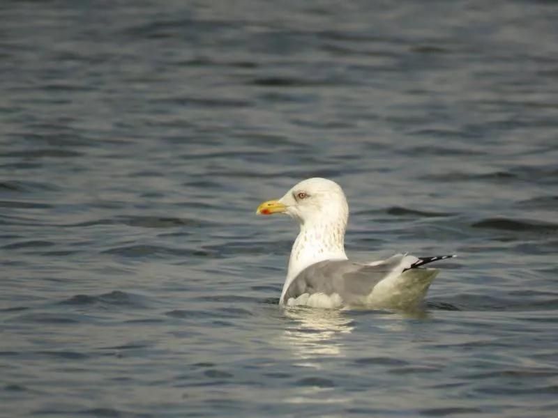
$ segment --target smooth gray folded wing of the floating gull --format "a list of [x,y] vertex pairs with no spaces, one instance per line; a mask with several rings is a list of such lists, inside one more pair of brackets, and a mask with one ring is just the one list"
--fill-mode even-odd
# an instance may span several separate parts
[[320,261],[296,276],[287,288],[283,300],[287,302],[291,297],[296,298],[304,293],[337,293],[344,304],[363,304],[379,281],[400,268],[404,257],[398,254],[377,265],[348,260]]

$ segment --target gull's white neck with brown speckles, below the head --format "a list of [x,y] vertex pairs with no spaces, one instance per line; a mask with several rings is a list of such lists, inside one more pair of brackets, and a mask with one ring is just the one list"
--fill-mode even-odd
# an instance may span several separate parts
[[337,222],[307,222],[292,245],[287,279],[283,285],[280,303],[289,285],[308,266],[324,260],[347,260],[345,254],[345,229],[347,219]]

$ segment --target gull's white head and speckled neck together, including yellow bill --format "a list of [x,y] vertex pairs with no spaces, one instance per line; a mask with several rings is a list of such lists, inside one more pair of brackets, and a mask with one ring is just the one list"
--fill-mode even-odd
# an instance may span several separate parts
[[326,178],[303,180],[278,201],[266,201],[257,208],[259,215],[285,213],[301,227],[289,258],[287,279],[280,303],[289,284],[309,265],[324,260],[347,260],[345,229],[349,206],[341,187]]

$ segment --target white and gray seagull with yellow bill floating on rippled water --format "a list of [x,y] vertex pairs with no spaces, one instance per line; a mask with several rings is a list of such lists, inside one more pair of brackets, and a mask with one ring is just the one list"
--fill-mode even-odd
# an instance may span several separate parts
[[281,199],[265,201],[257,215],[289,215],[299,222],[279,304],[326,309],[368,307],[414,309],[438,270],[423,268],[450,256],[395,254],[357,263],[345,254],[349,206],[341,187],[326,178],[308,178]]

